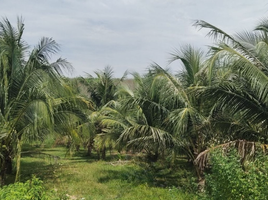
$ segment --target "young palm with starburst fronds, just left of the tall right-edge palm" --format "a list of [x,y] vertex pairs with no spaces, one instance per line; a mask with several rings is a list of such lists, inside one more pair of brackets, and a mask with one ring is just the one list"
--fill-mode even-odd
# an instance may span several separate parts
[[[189,160],[194,161],[211,138],[209,108],[205,106],[204,99],[197,95],[198,89],[204,86],[195,85],[194,82],[190,85],[189,82],[181,83],[185,79],[172,76],[158,65],[154,68],[157,77],[166,80],[165,89],[161,92],[166,97],[165,102],[172,105],[164,124],[166,130],[175,138],[177,148],[183,150]],[[199,68],[201,71],[202,67]],[[184,77],[186,75],[185,73]],[[198,76],[195,78],[196,83],[202,83],[198,81]],[[199,176],[198,168],[197,175]]]

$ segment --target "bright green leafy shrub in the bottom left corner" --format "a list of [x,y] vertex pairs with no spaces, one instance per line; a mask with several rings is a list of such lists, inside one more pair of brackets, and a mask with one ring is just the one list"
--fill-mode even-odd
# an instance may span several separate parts
[[4,186],[0,189],[0,199],[2,200],[50,200],[59,199],[52,196],[52,192],[45,192],[43,181],[36,178],[25,183],[17,182]]

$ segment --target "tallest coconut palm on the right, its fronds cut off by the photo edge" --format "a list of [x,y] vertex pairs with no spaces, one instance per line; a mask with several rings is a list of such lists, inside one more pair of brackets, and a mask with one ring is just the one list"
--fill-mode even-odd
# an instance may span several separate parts
[[268,46],[264,27],[267,21],[263,21],[253,32],[235,36],[203,21],[198,21],[196,25],[209,28],[209,34],[220,40],[217,46],[212,47],[212,60],[228,59],[228,68],[232,71],[231,77],[208,88],[205,95],[217,99],[221,110],[232,115],[237,123],[244,124],[244,128],[251,127],[251,136],[257,136],[255,140],[263,138],[266,142]]

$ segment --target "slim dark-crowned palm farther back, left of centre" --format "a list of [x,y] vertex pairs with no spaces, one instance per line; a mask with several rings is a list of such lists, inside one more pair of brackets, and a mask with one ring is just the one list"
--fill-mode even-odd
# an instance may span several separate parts
[[114,133],[102,123],[102,119],[108,118],[107,109],[116,100],[115,93],[127,72],[120,79],[114,78],[113,74],[113,69],[107,66],[104,70],[95,72],[96,78],[89,75],[88,78],[80,79],[80,84],[87,88],[89,98],[94,104],[94,111],[88,115],[90,135],[85,137],[88,155],[91,155],[92,149],[95,148],[98,154],[101,154],[102,159],[106,157],[107,148],[115,143],[112,138],[116,138],[113,136]]

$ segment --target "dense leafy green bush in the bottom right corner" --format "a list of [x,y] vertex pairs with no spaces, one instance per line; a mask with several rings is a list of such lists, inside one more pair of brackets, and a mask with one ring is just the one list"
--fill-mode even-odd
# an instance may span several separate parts
[[236,151],[214,152],[211,173],[206,175],[206,199],[266,199],[268,159],[256,155],[241,164]]

